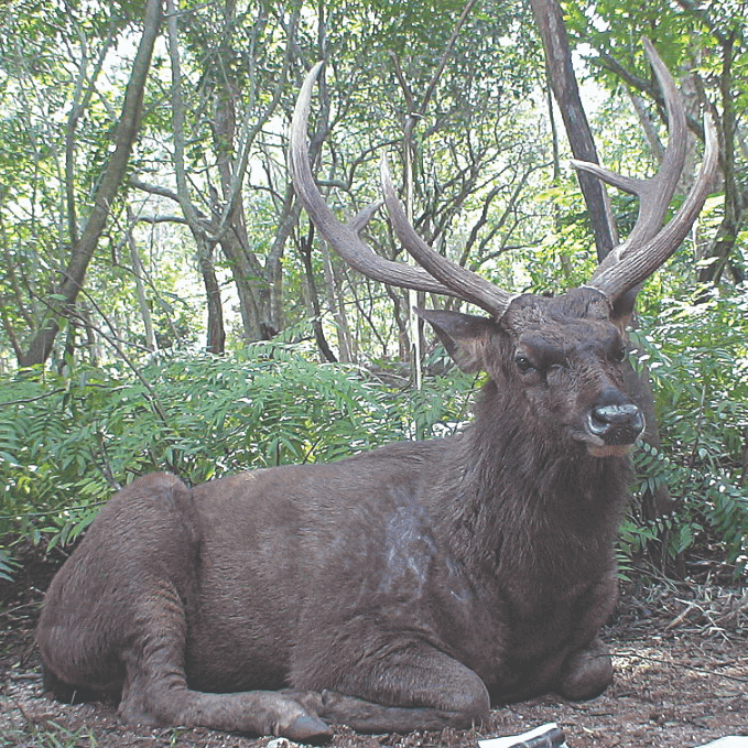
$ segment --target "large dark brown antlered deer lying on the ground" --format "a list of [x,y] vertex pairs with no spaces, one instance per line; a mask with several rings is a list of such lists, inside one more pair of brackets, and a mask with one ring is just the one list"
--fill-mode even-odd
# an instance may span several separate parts
[[52,581],[36,628],[45,689],[110,698],[126,724],[330,739],[469,728],[492,706],[549,692],[585,701],[613,679],[600,629],[617,604],[615,541],[629,453],[644,421],[624,383],[626,316],[681,245],[717,165],[705,120],[700,172],[663,226],[683,171],[681,95],[663,90],[660,170],[633,178],[576,163],[639,197],[628,239],[587,284],[512,294],[429,247],[389,170],[383,200],[415,259],[361,237],[380,207],[338,220],[312,175],[297,98],[289,167],[311,220],[371,279],[486,314],[420,310],[486,383],[471,421],[329,464],[248,470],[188,487],[142,476],[102,508]]

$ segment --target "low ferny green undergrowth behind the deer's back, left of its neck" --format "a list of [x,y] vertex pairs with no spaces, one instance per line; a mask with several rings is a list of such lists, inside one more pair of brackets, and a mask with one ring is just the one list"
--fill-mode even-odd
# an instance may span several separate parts
[[[117,486],[152,470],[195,484],[431,436],[463,419],[470,387],[452,372],[413,394],[279,344],[155,357],[140,375],[79,367],[3,382],[0,538],[75,540]],[[0,574],[11,572],[4,553]]]

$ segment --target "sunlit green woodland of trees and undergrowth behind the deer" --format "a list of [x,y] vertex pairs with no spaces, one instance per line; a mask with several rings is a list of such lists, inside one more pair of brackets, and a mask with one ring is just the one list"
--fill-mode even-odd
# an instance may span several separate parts
[[[305,72],[339,215],[387,152],[420,234],[513,291],[590,274],[590,225],[538,13],[563,11],[600,161],[638,176],[666,139],[641,40],[703,113],[720,175],[639,295],[631,364],[659,438],[637,453],[621,573],[748,561],[745,0],[11,0],[0,6],[0,576],[74,541],[119,486],[196,483],[448,433],[479,380],[408,293],[330,253],[285,167]],[[578,134],[578,133],[576,133]],[[621,237],[637,202],[611,193]],[[673,207],[677,206],[677,199]],[[367,240],[395,258],[382,217]],[[402,259],[400,257],[400,259]],[[420,299],[444,305],[445,300]],[[744,577],[745,578],[745,577]]]

